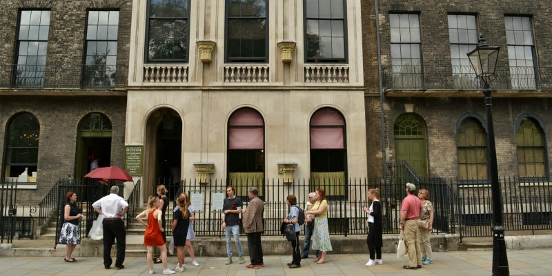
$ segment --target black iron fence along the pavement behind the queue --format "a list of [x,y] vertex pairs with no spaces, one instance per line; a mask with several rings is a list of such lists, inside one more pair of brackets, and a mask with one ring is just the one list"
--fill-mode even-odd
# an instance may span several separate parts
[[[407,175],[407,174],[406,174]],[[385,234],[399,233],[397,227],[400,217],[400,204],[406,195],[404,173],[397,173],[393,178],[366,178],[348,179],[345,184],[332,184],[328,179],[326,184],[313,185],[308,179],[295,179],[291,184],[281,183],[279,180],[266,180],[261,186],[257,186],[259,197],[265,204],[264,212],[264,235],[280,235],[279,227],[282,219],[288,214],[286,197],[290,194],[296,195],[299,206],[304,206],[307,195],[316,188],[324,190],[346,190],[347,198],[336,197],[329,200],[328,225],[331,235],[366,235],[367,223],[366,214],[362,211],[364,206],[370,202],[366,193],[369,188],[380,189],[380,200],[383,208],[383,224]],[[435,218],[433,231],[435,233],[457,233],[460,239],[464,237],[491,237],[492,216],[499,215],[492,213],[491,185],[477,182],[466,184],[458,179],[443,178],[411,178],[417,188],[424,188],[431,193],[430,201],[433,203]],[[188,193],[193,205],[197,208],[195,232],[197,236],[223,237],[224,231],[221,228],[221,199],[226,196],[226,182],[221,179],[213,179],[208,184],[200,184],[196,179],[184,179],[176,184],[171,184],[172,179],[159,179],[145,189],[145,193],[155,195],[155,187],[164,184],[169,191],[171,204],[167,210],[167,226],[170,229],[172,221],[172,208],[175,204],[174,196],[184,191]],[[120,183],[110,183],[115,185]],[[17,185],[17,184],[15,184]],[[25,204],[18,205],[17,186],[3,183],[1,190],[1,237],[2,242],[10,242],[15,233],[19,237],[26,237],[26,229],[34,228],[29,221],[41,221],[41,224],[48,224],[49,219],[57,221],[57,235],[63,223],[63,205],[68,190],[74,190],[79,200],[77,205],[83,208],[85,218],[81,223],[81,235],[86,233],[97,218],[97,213],[92,208],[92,203],[107,195],[110,186],[97,184],[95,179],[79,179],[78,181],[62,179],[48,193],[39,204],[39,217],[33,217],[36,208]],[[337,189],[334,186],[339,185]],[[504,209],[504,228],[506,231],[524,231],[535,235],[538,230],[552,230],[552,184],[543,179],[516,179],[504,177],[500,179],[502,202]],[[237,195],[244,199],[244,206],[248,205],[248,198],[245,197],[247,184],[234,185]],[[135,185],[129,197],[126,197],[129,207],[126,217],[126,226],[130,227],[131,219],[139,212],[139,206],[144,206],[144,200],[140,195],[141,184]],[[121,187],[121,192],[123,191]],[[123,195],[124,196],[124,195]],[[331,195],[330,195],[331,196]],[[57,207],[52,207],[57,206]],[[50,214],[50,215],[48,215]],[[44,217],[42,217],[44,216]],[[28,221],[28,222],[25,222]],[[29,224],[31,223],[31,224]],[[14,227],[14,228],[11,228]],[[32,233],[32,230],[30,230]],[[28,232],[28,231],[27,231]],[[244,235],[243,229],[241,230]],[[171,235],[170,231],[167,233]],[[526,235],[526,234],[524,234]],[[56,239],[57,243],[57,239]]]

